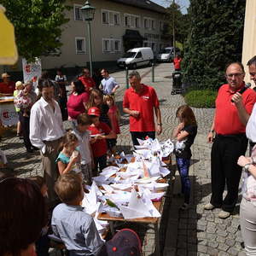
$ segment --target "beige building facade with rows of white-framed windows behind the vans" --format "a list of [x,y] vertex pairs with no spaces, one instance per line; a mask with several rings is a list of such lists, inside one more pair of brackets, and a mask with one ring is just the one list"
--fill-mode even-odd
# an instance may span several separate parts
[[[148,0],[90,0],[96,8],[91,24],[94,67],[116,61],[127,49],[170,46],[163,38],[166,9]],[[84,0],[69,0],[69,21],[62,26],[61,55],[42,57],[43,69],[84,67],[89,62],[89,37],[80,8]],[[11,67],[10,67],[11,68]],[[21,61],[15,67],[21,70]],[[13,70],[15,71],[15,70]]]

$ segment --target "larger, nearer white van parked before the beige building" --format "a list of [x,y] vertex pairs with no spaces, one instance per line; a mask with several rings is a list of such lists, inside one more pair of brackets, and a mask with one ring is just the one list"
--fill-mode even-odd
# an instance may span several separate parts
[[129,49],[122,58],[117,61],[119,67],[137,68],[151,65],[154,60],[153,50],[149,47]]

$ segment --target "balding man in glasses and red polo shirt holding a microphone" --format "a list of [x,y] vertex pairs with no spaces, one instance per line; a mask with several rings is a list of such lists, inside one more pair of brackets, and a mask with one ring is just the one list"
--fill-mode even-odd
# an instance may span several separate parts
[[[206,210],[222,207],[218,218],[230,217],[236,206],[241,177],[237,160],[247,150],[247,118],[256,102],[256,93],[252,89],[242,92],[245,72],[240,62],[231,63],[225,76],[228,84],[223,84],[218,90],[215,115],[208,134],[208,142],[212,143],[213,133],[216,133],[211,153],[212,198],[204,207]],[[228,193],[223,200],[225,183]]]

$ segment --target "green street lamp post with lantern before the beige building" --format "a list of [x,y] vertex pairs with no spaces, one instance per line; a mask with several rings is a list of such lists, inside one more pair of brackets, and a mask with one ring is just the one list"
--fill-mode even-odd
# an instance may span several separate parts
[[92,76],[92,56],[91,56],[91,37],[90,37],[90,21],[94,19],[95,7],[91,6],[87,0],[84,6],[80,8],[83,19],[88,21],[88,35],[89,35],[89,56],[90,56],[90,76]]

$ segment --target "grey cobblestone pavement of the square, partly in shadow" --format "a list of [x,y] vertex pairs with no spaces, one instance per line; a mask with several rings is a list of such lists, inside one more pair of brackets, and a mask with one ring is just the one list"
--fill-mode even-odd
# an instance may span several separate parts
[[[171,64],[160,64],[155,67],[155,82],[151,82],[151,68],[140,68],[138,71],[145,74],[142,82],[154,86],[160,99],[163,132],[159,139],[165,140],[172,135],[172,129],[177,125],[175,113],[177,107],[182,105],[183,97],[171,96],[172,74]],[[149,72],[149,73],[148,73]],[[125,91],[125,71],[112,74],[119,82],[120,89],[116,94],[116,102],[121,109],[122,97]],[[192,147],[192,165],[190,179],[192,182],[191,207],[188,212],[179,212],[178,207],[183,200],[176,197],[166,198],[166,207],[160,224],[161,249],[166,256],[171,255],[242,255],[241,232],[239,230],[239,216],[237,214],[222,220],[218,218],[219,209],[212,212],[203,210],[203,205],[209,201],[211,195],[210,179],[210,150],[207,144],[207,131],[212,123],[213,109],[194,108],[198,121],[198,135]],[[65,124],[68,126],[68,124]],[[129,133],[129,119],[121,113],[121,135],[118,138],[118,149],[129,152],[131,150],[131,137]],[[1,149],[8,157],[10,166],[20,177],[42,175],[40,154],[26,154],[22,141],[10,136],[3,137]],[[12,135],[12,136],[11,136]],[[172,166],[175,168],[175,166]],[[179,192],[179,177],[176,176],[174,193]],[[131,227],[131,226],[130,226]],[[132,228],[132,227],[131,227]],[[137,230],[138,228],[135,227]],[[139,228],[143,234],[144,255],[154,252],[154,230],[148,226]],[[164,244],[163,244],[164,242]]]

